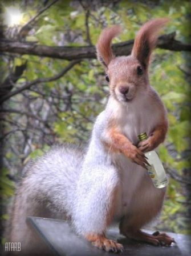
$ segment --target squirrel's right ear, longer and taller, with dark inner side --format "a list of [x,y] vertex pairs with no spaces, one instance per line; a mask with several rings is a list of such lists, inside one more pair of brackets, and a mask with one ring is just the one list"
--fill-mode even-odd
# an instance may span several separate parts
[[133,45],[132,53],[147,69],[153,48],[156,45],[160,29],[169,21],[168,18],[152,19],[141,27]]

